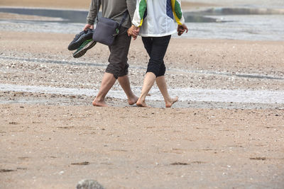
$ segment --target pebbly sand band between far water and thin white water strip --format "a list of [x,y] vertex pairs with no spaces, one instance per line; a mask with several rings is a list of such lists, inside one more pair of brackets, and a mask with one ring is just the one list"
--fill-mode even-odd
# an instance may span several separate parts
[[[67,50],[73,37],[55,33],[1,32],[1,70],[5,73],[0,76],[1,83],[98,87],[107,67],[108,47],[97,44],[83,57],[74,59],[72,52]],[[173,38],[165,56],[166,79],[169,88],[283,91],[283,53],[283,42]],[[132,41],[129,76],[133,87],[142,86],[147,62],[141,38]]]

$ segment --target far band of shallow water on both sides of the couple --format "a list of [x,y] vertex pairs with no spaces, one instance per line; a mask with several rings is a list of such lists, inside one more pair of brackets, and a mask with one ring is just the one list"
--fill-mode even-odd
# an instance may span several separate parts
[[[211,11],[210,11],[211,10]],[[223,10],[223,11],[222,11]],[[284,40],[284,9],[212,8],[185,13],[189,33],[182,38],[231,40]],[[241,10],[241,11],[240,11]],[[271,13],[273,10],[275,13]],[[273,12],[272,11],[272,12]],[[0,30],[38,33],[78,33],[84,27],[87,11],[0,8],[0,12],[62,18],[62,21],[0,20]],[[173,35],[175,38],[180,38]]]

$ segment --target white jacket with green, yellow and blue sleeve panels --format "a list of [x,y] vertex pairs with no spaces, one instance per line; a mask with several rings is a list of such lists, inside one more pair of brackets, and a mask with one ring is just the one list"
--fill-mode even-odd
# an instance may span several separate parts
[[141,26],[142,37],[161,37],[177,32],[179,25],[185,23],[180,0],[137,0],[132,24]]

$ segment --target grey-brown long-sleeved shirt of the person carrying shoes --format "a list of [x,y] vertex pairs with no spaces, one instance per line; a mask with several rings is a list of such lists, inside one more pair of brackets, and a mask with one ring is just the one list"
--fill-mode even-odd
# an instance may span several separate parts
[[[99,1],[99,2],[98,2]],[[126,21],[122,26],[129,28],[131,26],[131,21],[133,14],[136,9],[136,0],[92,0],[89,6],[89,14],[87,16],[87,23],[94,25],[94,20],[98,13],[98,3],[99,7],[102,4],[102,16],[106,18],[111,18],[114,21],[120,23],[124,17],[124,12],[129,11],[129,16],[127,16]]]

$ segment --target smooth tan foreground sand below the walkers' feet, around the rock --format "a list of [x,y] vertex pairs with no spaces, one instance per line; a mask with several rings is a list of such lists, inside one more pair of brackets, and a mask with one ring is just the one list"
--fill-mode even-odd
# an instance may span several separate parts
[[1,188],[283,188],[283,110],[1,105]]

